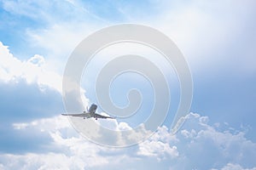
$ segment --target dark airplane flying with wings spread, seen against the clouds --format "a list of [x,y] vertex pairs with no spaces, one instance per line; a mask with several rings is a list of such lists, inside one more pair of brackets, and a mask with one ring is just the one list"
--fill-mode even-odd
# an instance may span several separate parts
[[61,114],[62,116],[81,116],[85,118],[91,118],[94,117],[96,120],[98,118],[101,119],[115,119],[115,117],[112,116],[102,116],[100,114],[96,113],[97,105],[92,104],[90,105],[89,111],[84,111],[83,113],[78,113],[78,114]]

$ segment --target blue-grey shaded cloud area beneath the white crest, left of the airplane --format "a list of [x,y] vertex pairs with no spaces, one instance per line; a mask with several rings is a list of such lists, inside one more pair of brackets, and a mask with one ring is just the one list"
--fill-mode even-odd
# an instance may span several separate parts
[[[20,153],[40,150],[38,144],[49,141],[45,132],[19,133],[16,129],[26,128],[26,123],[11,126],[14,122],[29,122],[42,117],[51,117],[63,111],[61,95],[55,90],[40,90],[37,84],[25,81],[0,82],[0,150]],[[17,142],[19,141],[19,142]],[[42,148],[41,148],[42,149]]]

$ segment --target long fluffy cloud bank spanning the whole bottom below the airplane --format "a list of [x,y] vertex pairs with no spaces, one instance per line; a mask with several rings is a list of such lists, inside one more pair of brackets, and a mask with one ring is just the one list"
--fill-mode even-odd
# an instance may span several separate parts
[[15,122],[13,128],[21,134],[45,132],[50,140],[44,147],[50,151],[2,154],[0,165],[6,169],[102,169],[107,165],[113,169],[154,169],[156,166],[162,169],[256,168],[253,160],[256,144],[246,139],[245,133],[231,133],[229,129],[218,131],[208,124],[207,116],[194,113],[189,114],[175,135],[167,127],[159,127],[149,139],[125,148],[104,147],[84,139],[63,116]]

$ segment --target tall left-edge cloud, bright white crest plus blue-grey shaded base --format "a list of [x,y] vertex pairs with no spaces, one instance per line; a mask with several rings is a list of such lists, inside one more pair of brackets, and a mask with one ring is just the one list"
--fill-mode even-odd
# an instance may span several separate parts
[[32,130],[21,134],[17,129],[26,128],[26,123],[15,128],[11,124],[60,114],[61,76],[45,69],[46,61],[41,55],[20,60],[2,42],[0,54],[0,150],[3,153],[44,150],[44,144],[49,142],[47,133]]

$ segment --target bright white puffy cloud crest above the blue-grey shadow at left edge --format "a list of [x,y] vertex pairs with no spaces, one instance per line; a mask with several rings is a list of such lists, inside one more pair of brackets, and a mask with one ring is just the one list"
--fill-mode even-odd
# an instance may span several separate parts
[[47,86],[61,93],[61,76],[45,68],[43,56],[35,54],[32,58],[21,61],[15,58],[2,42],[0,42],[0,52],[0,80],[19,82],[19,79],[25,79],[28,83],[38,83],[42,89]]

